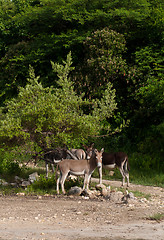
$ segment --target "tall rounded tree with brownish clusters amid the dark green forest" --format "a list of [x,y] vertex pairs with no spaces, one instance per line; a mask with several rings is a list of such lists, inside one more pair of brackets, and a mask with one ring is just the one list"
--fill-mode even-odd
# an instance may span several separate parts
[[123,35],[108,28],[97,30],[86,38],[84,47],[86,56],[84,63],[77,68],[76,81],[77,84],[81,83],[86,96],[102,96],[109,82],[117,90],[119,84],[126,84],[124,76],[127,66],[122,57],[126,50]]

